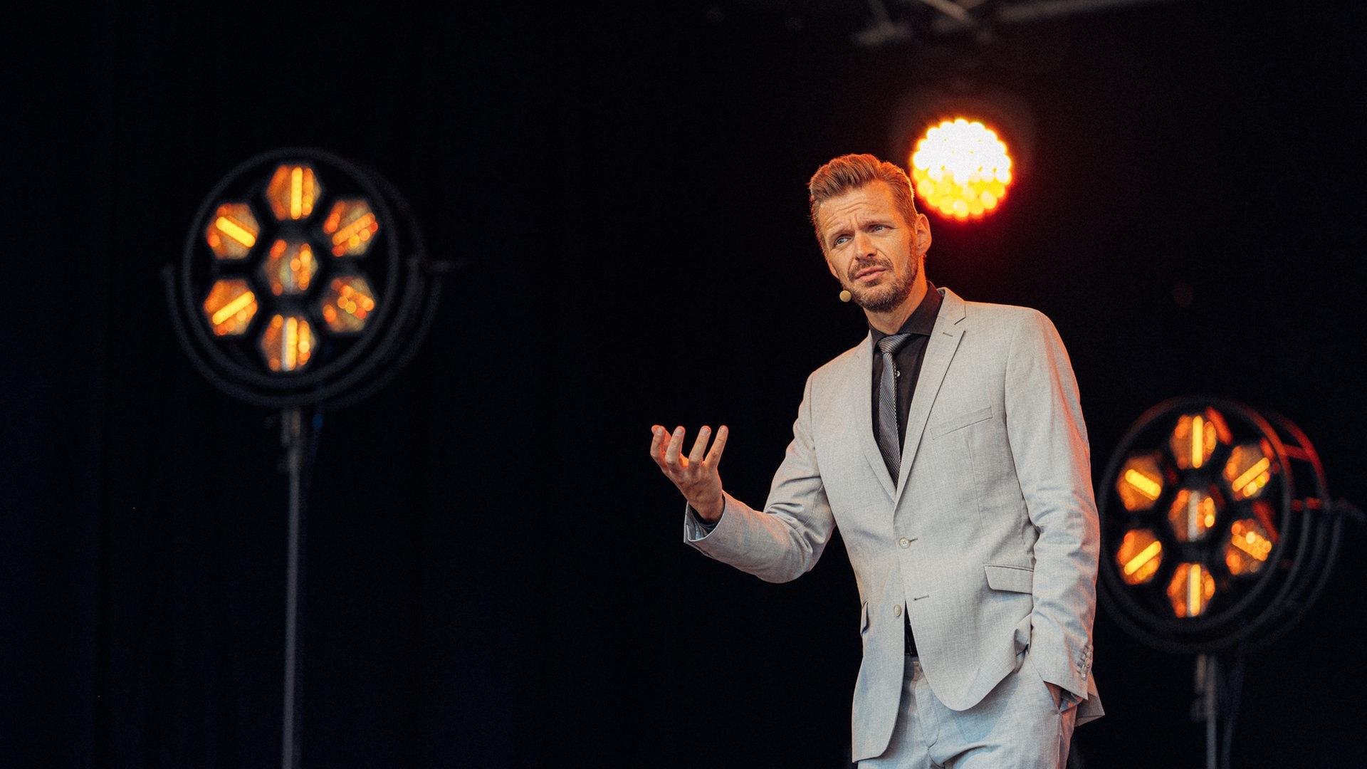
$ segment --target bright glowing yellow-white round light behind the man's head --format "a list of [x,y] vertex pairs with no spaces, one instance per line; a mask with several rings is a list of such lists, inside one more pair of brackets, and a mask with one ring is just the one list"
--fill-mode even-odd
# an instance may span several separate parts
[[916,194],[956,219],[990,213],[1012,183],[1012,159],[979,120],[945,120],[925,131],[910,157]]

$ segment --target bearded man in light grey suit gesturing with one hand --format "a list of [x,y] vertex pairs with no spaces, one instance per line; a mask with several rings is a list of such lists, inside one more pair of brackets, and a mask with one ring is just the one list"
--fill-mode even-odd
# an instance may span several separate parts
[[685,540],[786,582],[841,528],[861,601],[860,766],[1064,766],[1076,722],[1102,714],[1098,516],[1068,353],[1042,313],[928,283],[930,223],[897,166],[841,156],[808,190],[869,335],[808,378],[763,510],[722,488],[725,426],[688,454],[682,427],[652,427]]

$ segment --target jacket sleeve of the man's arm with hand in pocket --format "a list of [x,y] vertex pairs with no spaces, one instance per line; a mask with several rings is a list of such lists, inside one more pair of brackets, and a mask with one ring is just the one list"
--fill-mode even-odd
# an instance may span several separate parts
[[1042,677],[1087,698],[1100,527],[1077,380],[1054,324],[1017,328],[1006,367],[1006,428],[1035,542],[1029,654]]

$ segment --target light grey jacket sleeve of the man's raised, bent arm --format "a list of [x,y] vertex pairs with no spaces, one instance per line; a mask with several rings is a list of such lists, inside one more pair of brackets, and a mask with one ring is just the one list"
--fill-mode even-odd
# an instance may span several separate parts
[[725,495],[720,520],[708,531],[692,510],[684,513],[684,540],[711,558],[766,582],[794,580],[816,565],[835,519],[826,499],[811,430],[812,378],[793,423],[793,442],[774,475],[768,501],[755,510]]

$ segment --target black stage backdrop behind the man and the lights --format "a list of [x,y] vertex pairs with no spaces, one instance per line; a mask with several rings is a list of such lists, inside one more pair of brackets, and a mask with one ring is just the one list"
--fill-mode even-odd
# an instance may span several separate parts
[[[863,1],[51,5],[10,27],[0,762],[280,762],[279,413],[202,378],[160,272],[280,146],[373,167],[444,282],[413,364],[321,415],[303,765],[841,768],[843,547],[772,586],[679,542],[653,423],[726,423],[759,504],[805,375],[853,345],[811,172],[891,155],[908,92],[1003,90],[1029,161],[932,215],[931,279],[1046,312],[1099,475],[1181,394],[1305,431],[1362,505],[1362,42],[1330,11],[1140,3],[852,42]],[[991,10],[988,5],[987,10]],[[1307,12],[1303,12],[1307,11]],[[891,157],[897,160],[895,157]],[[1359,755],[1363,530],[1249,655],[1233,764]],[[1105,612],[1087,766],[1202,766],[1193,664]]]

